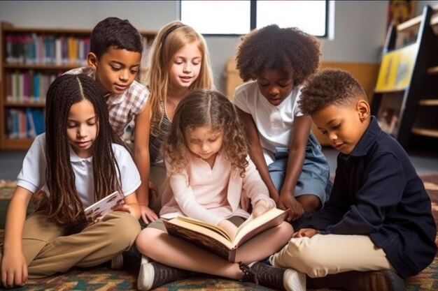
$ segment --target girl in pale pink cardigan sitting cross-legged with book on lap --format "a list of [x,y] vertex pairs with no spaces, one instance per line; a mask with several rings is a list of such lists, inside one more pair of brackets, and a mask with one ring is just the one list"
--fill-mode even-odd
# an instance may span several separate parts
[[150,223],[136,239],[144,255],[138,288],[157,288],[196,271],[234,280],[255,277],[262,285],[292,290],[292,283],[303,279],[295,278],[297,272],[259,262],[289,241],[289,223],[283,221],[257,234],[237,250],[234,262],[228,262],[169,235],[162,222],[163,218],[189,216],[235,234],[238,225],[250,216],[241,208],[241,195],[250,199],[252,216],[276,207],[248,158],[246,135],[231,101],[217,91],[192,91],[176,108],[164,151],[169,183],[163,193],[160,220]]

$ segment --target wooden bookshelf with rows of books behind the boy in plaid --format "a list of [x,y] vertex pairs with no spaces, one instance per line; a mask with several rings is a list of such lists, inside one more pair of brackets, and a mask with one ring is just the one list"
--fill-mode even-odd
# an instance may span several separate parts
[[[87,65],[92,29],[0,25],[0,149],[29,149],[44,131],[45,94],[51,82]],[[156,33],[140,33],[144,71]]]

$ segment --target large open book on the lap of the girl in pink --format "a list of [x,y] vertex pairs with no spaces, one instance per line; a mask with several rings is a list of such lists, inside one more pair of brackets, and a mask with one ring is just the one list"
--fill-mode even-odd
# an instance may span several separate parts
[[255,237],[256,234],[281,224],[285,215],[284,210],[273,208],[257,216],[257,218],[250,216],[239,226],[234,239],[218,225],[185,216],[178,216],[169,221],[164,220],[164,225],[167,232],[174,237],[189,241],[212,253],[216,253],[216,255],[220,255],[229,262],[234,262],[236,250],[239,246],[248,239]]

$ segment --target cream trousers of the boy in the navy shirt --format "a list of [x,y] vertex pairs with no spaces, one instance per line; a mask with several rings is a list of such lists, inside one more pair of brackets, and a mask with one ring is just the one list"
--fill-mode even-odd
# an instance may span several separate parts
[[376,271],[393,266],[365,235],[316,234],[292,238],[269,258],[275,267],[292,268],[311,278],[344,271]]

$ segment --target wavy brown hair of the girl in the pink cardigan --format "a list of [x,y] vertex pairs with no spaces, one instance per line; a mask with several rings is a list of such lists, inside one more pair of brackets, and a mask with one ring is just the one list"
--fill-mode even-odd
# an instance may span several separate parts
[[204,89],[190,92],[176,107],[171,131],[163,147],[164,156],[171,165],[170,172],[181,172],[188,163],[190,150],[185,140],[186,131],[202,126],[222,132],[225,155],[232,167],[240,169],[243,177],[248,165],[248,141],[239,114],[223,94]]

